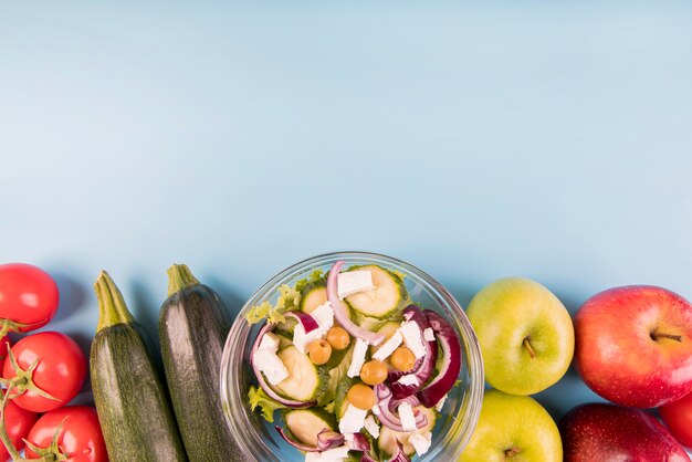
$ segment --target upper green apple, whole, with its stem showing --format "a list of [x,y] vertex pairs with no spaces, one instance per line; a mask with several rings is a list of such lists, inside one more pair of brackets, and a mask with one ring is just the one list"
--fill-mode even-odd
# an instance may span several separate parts
[[537,282],[495,281],[473,297],[466,314],[481,344],[485,380],[493,388],[533,395],[567,371],[575,346],[572,317]]

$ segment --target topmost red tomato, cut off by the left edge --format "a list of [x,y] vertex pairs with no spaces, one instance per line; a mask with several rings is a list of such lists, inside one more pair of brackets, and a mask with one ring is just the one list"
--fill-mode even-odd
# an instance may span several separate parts
[[25,263],[0,265],[0,318],[27,325],[20,332],[46,325],[59,301],[57,285],[45,271]]

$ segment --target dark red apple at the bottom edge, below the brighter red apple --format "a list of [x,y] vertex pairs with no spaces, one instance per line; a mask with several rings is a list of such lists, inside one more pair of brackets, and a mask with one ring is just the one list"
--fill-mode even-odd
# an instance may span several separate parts
[[684,449],[653,417],[614,405],[581,405],[559,422],[564,462],[689,462]]

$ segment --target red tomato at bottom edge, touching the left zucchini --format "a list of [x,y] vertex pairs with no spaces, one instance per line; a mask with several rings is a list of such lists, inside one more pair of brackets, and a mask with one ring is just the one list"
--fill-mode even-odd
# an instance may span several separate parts
[[[64,420],[57,437],[57,447],[69,462],[106,462],[106,443],[103,440],[96,409],[87,406],[67,406],[41,416],[27,441],[38,448],[49,448],[55,430]],[[27,458],[39,454],[27,448]]]

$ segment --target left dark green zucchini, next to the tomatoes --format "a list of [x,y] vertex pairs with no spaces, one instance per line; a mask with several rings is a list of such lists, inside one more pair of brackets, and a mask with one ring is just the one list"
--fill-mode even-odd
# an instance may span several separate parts
[[144,329],[108,273],[101,273],[94,288],[99,316],[90,369],[111,462],[187,461]]

